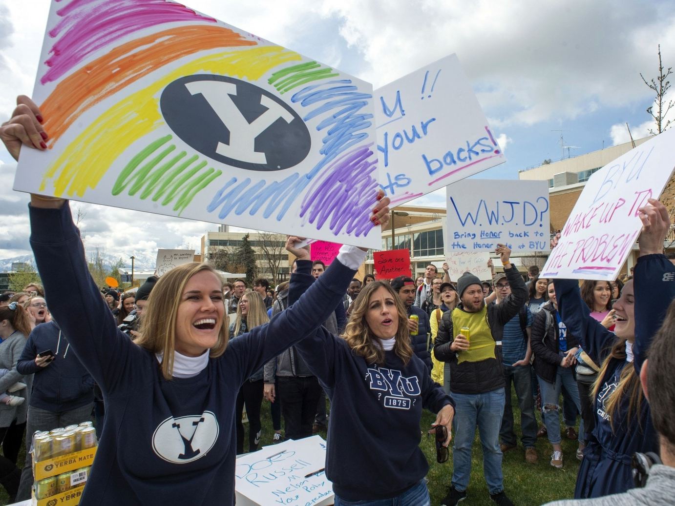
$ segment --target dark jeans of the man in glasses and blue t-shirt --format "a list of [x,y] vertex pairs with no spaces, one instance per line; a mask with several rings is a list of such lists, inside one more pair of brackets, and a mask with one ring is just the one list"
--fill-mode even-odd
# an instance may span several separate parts
[[534,448],[537,443],[537,418],[535,418],[535,405],[532,399],[531,366],[504,366],[504,416],[502,416],[502,429],[499,436],[505,445],[516,444],[516,434],[513,431],[513,407],[511,405],[511,383],[516,389],[518,407],[520,407],[520,430],[522,430],[522,445],[525,448]]

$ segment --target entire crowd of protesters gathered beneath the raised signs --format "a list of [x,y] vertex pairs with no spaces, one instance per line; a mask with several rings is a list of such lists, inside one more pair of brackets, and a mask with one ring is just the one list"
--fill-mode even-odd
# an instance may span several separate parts
[[[15,158],[41,131],[34,104],[22,106],[0,131]],[[386,224],[389,199],[379,192],[376,202],[373,223]],[[190,263],[120,293],[94,285],[68,202],[32,195],[44,288],[0,296],[0,484],[28,499],[22,442],[95,418],[82,504],[232,504],[236,455],[258,449],[267,399],[275,442],[327,428],[335,505],[430,504],[424,409],[436,416],[439,463],[453,443],[441,504],[466,498],[478,430],[487,491],[511,505],[502,457],[518,448],[514,389],[524,461],[537,463],[545,436],[547,460],[563,468],[562,437],[578,441],[575,499],[561,505],[658,505],[675,482],[675,265],[663,254],[665,206],[649,200],[639,212],[634,273],[612,282],[535,268],[526,281],[503,244],[489,281],[452,280],[447,264],[442,277],[429,264],[417,279],[361,280],[365,250],[342,246],[327,268],[290,236],[292,274],[276,287],[230,284]],[[649,474],[642,494],[636,466]]]

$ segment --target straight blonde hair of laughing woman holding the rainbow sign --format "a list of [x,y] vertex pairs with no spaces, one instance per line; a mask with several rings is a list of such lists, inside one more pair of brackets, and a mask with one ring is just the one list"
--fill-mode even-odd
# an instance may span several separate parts
[[[162,353],[161,369],[164,378],[170,380],[173,377],[173,352],[175,351],[175,318],[178,314],[183,291],[188,280],[202,271],[213,273],[221,283],[222,280],[207,264],[190,262],[183,264],[159,278],[153,291],[148,297],[148,305],[140,319],[140,337],[134,342],[153,353]],[[227,329],[227,314],[224,312],[218,341],[209,351],[209,357],[216,358],[225,352],[229,331]]]

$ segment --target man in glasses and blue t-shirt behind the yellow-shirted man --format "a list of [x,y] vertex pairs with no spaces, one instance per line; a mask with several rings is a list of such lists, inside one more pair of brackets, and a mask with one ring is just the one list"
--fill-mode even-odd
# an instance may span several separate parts
[[[511,286],[506,274],[498,273],[493,277],[493,285],[497,300],[500,304],[511,293]],[[520,407],[520,428],[522,430],[522,445],[525,447],[525,461],[537,463],[537,419],[535,418],[535,406],[532,398],[532,375],[530,358],[530,327],[532,327],[532,314],[525,304],[520,306],[520,311],[504,325],[502,335],[502,367],[504,368],[504,414],[502,415],[502,428],[499,430],[499,438],[502,443],[499,447],[502,452],[516,448],[516,434],[513,430],[513,408],[511,405],[511,385],[516,389],[518,406]]]

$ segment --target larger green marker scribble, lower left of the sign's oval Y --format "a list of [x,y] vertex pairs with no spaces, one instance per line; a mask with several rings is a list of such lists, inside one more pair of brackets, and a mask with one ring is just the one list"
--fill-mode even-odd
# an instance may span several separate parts
[[[159,165],[175,150],[173,144],[164,146],[171,138],[170,135],[164,136],[140,150],[119,173],[113,185],[112,194],[121,194],[131,184],[128,194],[135,195],[142,190],[140,193],[141,200],[145,200],[152,195],[153,202],[157,202],[166,194],[161,200],[163,206],[171,204],[174,198],[178,196],[173,203],[173,210],[178,211],[180,216],[180,213],[192,202],[194,196],[209,186],[211,181],[222,174],[222,171],[217,171],[213,167],[202,171],[207,165],[206,161],[201,161],[194,167],[190,167],[199,159],[196,154],[174,168],[178,162],[187,156],[185,151],[179,152]],[[162,146],[164,148],[155,154]]]

